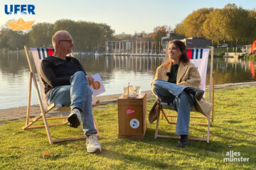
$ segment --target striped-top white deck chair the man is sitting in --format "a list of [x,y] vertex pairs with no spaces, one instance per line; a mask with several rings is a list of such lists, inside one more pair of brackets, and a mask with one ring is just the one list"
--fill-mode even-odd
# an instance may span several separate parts
[[[46,57],[49,57],[50,55],[53,55],[54,49],[33,48],[33,47],[29,48],[29,47],[26,47],[26,45],[24,46],[24,48],[25,48],[26,57],[27,57],[27,60],[28,60],[28,66],[29,66],[29,69],[30,69],[30,73],[29,73],[29,84],[28,84],[28,104],[27,104],[27,113],[26,113],[26,124],[22,127],[22,129],[26,130],[26,129],[30,129],[30,128],[43,128],[43,127],[45,127],[47,137],[48,137],[48,141],[50,142],[50,144],[53,144],[53,143],[56,143],[56,142],[64,142],[64,141],[70,141],[70,140],[85,139],[86,136],[70,137],[70,138],[57,139],[57,140],[52,139],[52,137],[50,135],[49,127],[54,126],[54,125],[65,125],[66,123],[68,123],[68,121],[65,120],[65,121],[63,121],[63,123],[54,123],[54,124],[48,125],[47,120],[67,119],[68,116],[46,118],[46,113],[48,113],[49,111],[51,111],[55,107],[58,107],[58,111],[69,111],[70,110],[70,107],[58,106],[55,103],[52,103],[52,104],[50,104],[50,106],[48,106],[48,103],[46,102],[46,94],[43,92],[44,91],[44,84],[43,84],[43,81],[41,79],[41,75],[38,74],[38,73],[40,73],[40,67],[41,67],[42,60]],[[70,56],[73,57],[73,53],[70,53]],[[36,66],[36,70],[33,67],[33,63]],[[40,82],[40,85],[41,85],[41,92],[39,91],[38,84],[36,82],[36,73],[38,74],[38,79],[39,79],[39,82]],[[32,81],[33,81],[33,84],[35,85],[36,94],[37,94],[37,97],[38,97],[38,102],[39,102],[39,106],[40,106],[40,109],[41,109],[41,113],[39,113],[35,118],[30,119]],[[96,106],[99,103],[100,103],[99,101],[94,102],[94,103],[92,103],[92,106]],[[43,120],[44,125],[31,126],[31,125],[33,125],[33,123],[36,123],[36,121],[38,121],[38,120]],[[97,128],[97,124],[96,124],[96,120],[95,120],[94,115],[93,115],[93,120],[94,120],[95,128],[97,129],[97,136],[100,137],[100,131]]]

